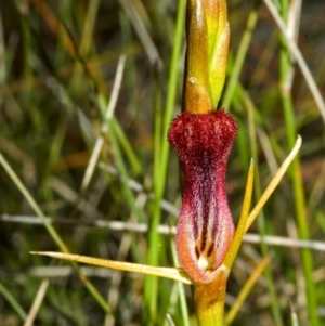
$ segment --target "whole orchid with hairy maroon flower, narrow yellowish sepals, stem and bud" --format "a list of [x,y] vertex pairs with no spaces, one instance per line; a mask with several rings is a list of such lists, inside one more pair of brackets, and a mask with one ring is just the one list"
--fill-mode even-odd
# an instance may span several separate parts
[[172,121],[168,132],[185,175],[176,235],[182,268],[148,266],[62,252],[35,253],[192,284],[198,324],[223,325],[226,281],[243,236],[301,145],[298,138],[292,152],[249,213],[253,183],[251,161],[235,230],[226,199],[225,171],[238,126],[224,109],[216,109],[225,80],[229,39],[225,0],[188,0],[183,113]]

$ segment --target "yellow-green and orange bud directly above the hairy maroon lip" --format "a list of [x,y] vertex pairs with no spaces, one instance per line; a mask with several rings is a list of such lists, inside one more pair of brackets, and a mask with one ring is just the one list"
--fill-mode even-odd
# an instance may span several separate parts
[[230,28],[225,0],[188,0],[184,110],[217,108],[226,74]]

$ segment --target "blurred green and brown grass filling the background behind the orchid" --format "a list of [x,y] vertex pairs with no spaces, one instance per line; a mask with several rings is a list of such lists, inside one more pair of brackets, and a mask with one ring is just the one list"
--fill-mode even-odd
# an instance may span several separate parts
[[[325,132],[320,108],[266,6],[261,1],[227,2],[231,54],[221,102],[240,125],[227,170],[234,220],[250,157],[258,167],[257,199],[301,134],[299,159],[250,232],[324,243]],[[287,19],[289,1],[273,2]],[[159,235],[156,226],[176,225],[181,201],[178,161],[174,153],[168,155],[166,130],[181,109],[184,3],[0,3],[0,153],[72,252],[174,264],[173,238]],[[301,19],[297,13],[292,18],[321,93],[324,12],[324,0],[303,1]],[[122,55],[126,64],[113,107]],[[109,103],[115,108],[112,119],[105,116]],[[161,208],[162,198],[167,201]],[[176,325],[196,325],[188,287],[83,268],[92,291],[67,263],[31,256],[30,250],[60,248],[3,167],[0,218],[1,326],[23,325],[42,289],[34,325],[168,325],[166,313]],[[118,231],[107,223],[114,221],[132,224]],[[136,232],[136,224],[147,225],[148,232]],[[295,325],[291,305],[300,325],[323,325],[321,250],[245,244],[229,282],[227,307],[268,252],[273,256],[270,270],[232,325]]]

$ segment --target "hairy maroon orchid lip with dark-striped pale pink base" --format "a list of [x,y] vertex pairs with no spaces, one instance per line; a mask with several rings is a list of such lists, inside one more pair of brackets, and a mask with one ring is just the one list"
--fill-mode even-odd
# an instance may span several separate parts
[[196,283],[209,282],[234,236],[225,169],[237,129],[224,110],[183,113],[169,129],[168,140],[185,175],[177,250],[183,268]]

